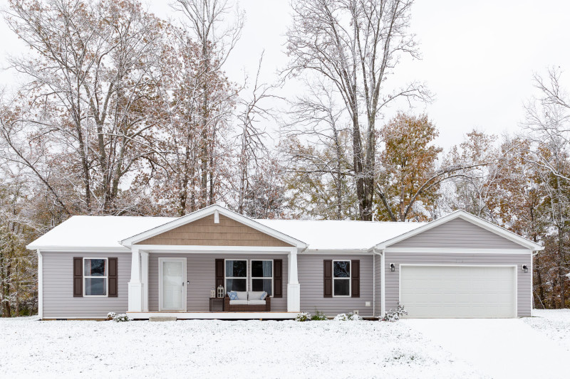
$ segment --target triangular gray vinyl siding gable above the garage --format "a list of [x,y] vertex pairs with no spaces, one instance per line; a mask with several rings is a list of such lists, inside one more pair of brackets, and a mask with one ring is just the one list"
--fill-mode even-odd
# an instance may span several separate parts
[[501,237],[462,218],[447,221],[447,223],[428,229],[418,235],[413,235],[394,245],[390,245],[390,247],[524,248],[511,240],[507,240],[507,238]]

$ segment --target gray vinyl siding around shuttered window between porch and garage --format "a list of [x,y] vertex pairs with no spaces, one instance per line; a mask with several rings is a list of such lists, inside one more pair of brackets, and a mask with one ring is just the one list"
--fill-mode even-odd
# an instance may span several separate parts
[[[299,254],[298,271],[301,285],[301,311],[315,309],[327,316],[358,309],[361,316],[373,316],[373,257],[372,255],[303,255]],[[323,260],[360,260],[361,297],[323,297]],[[366,306],[370,301],[371,306]]]

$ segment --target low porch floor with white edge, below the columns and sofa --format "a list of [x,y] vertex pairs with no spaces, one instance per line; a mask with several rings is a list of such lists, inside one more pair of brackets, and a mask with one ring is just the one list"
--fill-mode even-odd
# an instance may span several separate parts
[[147,320],[150,317],[176,317],[176,319],[217,319],[217,320],[243,320],[267,319],[289,320],[294,319],[299,312],[185,312],[185,311],[152,311],[127,312],[130,319]]

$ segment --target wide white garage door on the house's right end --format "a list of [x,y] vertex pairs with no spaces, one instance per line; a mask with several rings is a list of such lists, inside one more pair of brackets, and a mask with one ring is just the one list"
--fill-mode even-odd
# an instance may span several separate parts
[[412,318],[516,317],[512,266],[400,265],[400,304]]

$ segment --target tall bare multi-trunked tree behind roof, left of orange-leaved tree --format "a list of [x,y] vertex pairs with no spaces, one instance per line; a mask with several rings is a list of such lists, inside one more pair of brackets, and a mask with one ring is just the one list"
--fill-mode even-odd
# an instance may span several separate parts
[[405,97],[426,100],[423,85],[412,82],[388,90],[386,81],[402,56],[419,58],[408,31],[411,0],[294,1],[287,32],[291,57],[285,75],[307,73],[338,91],[351,120],[352,171],[358,218],[372,220],[377,119],[384,107]]

